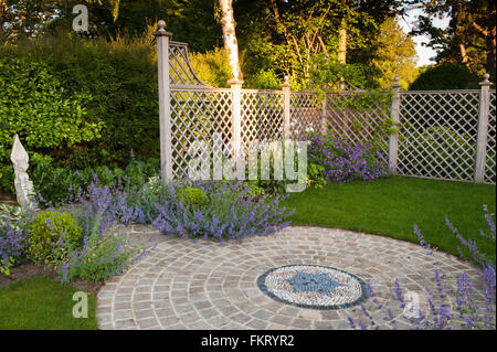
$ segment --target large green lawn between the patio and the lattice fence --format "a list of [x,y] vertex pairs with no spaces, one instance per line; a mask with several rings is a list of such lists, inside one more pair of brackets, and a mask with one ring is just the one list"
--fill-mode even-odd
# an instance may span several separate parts
[[284,204],[296,209],[290,218],[294,225],[348,228],[417,243],[416,224],[432,246],[457,255],[459,243],[445,224],[448,216],[464,237],[476,239],[495,262],[495,241],[479,234],[480,228],[488,230],[482,205],[495,213],[495,185],[487,184],[387,178],[307,189],[293,193]]

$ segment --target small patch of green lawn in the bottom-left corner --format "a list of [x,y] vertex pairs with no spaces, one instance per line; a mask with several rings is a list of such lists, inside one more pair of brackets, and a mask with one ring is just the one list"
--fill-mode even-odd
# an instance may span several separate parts
[[32,277],[0,288],[0,330],[94,330],[95,297],[88,295],[88,318],[74,318],[73,294],[44,277]]

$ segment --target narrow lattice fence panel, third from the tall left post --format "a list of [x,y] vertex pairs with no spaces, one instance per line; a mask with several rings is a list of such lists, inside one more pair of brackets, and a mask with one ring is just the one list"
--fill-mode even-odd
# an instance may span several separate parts
[[292,92],[290,95],[290,135],[294,138],[306,136],[309,131],[319,131],[322,116],[322,103],[314,92]]

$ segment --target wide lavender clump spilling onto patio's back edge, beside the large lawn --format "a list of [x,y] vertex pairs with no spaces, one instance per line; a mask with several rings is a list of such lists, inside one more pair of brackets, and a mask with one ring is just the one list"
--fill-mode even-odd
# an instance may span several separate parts
[[[188,206],[181,199],[170,198],[156,204],[159,215],[152,224],[162,233],[173,233],[186,238],[215,238],[243,241],[247,236],[269,235],[289,225],[287,213],[276,195],[268,199],[254,195],[242,182],[198,182],[209,196],[202,207]],[[175,192],[175,190],[171,190]]]

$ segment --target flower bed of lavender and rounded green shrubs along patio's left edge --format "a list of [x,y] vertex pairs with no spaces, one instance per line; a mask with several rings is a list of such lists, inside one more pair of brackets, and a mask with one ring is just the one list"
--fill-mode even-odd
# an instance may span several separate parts
[[63,282],[105,280],[154,249],[131,245],[118,224],[154,224],[162,233],[193,239],[243,241],[289,224],[281,199],[255,195],[251,186],[228,181],[162,184],[150,178],[139,186],[114,188],[93,182],[63,209],[35,215],[6,206],[0,267],[9,275],[11,267],[30,259],[53,267]]

